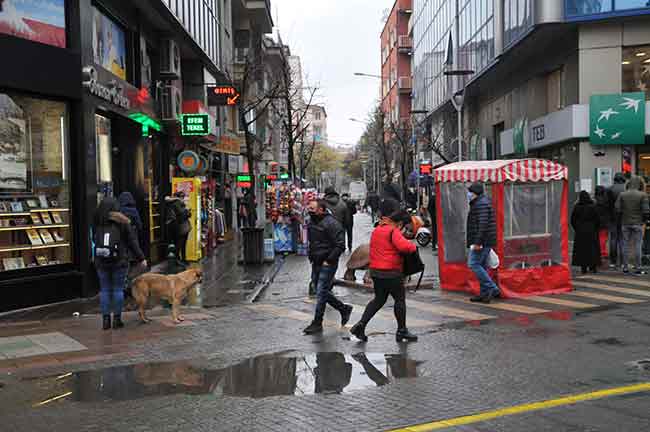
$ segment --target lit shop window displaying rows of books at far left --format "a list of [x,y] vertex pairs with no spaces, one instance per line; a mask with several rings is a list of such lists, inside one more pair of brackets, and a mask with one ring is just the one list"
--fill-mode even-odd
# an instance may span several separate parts
[[0,272],[70,263],[68,113],[0,91]]

